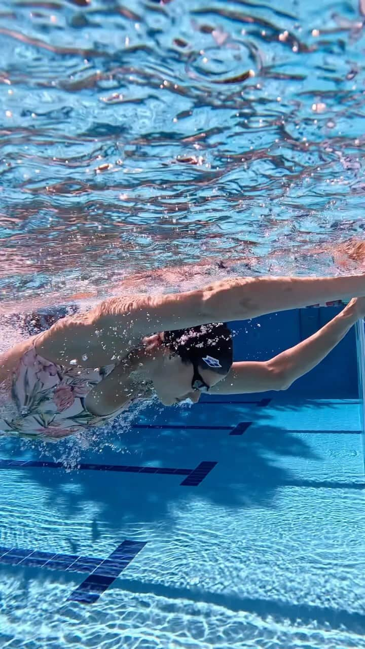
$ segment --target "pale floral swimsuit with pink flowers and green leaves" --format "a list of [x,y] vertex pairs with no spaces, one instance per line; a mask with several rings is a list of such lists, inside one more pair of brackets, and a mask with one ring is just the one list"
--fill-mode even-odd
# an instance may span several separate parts
[[33,343],[12,374],[13,412],[9,417],[0,413],[0,434],[57,440],[114,419],[117,413],[99,417],[84,405],[86,395],[114,367],[57,365],[37,354]]

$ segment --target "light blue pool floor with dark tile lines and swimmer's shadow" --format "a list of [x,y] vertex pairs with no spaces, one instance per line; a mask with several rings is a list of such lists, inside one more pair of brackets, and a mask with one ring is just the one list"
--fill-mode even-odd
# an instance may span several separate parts
[[361,404],[285,397],[1,440],[3,646],[365,647]]

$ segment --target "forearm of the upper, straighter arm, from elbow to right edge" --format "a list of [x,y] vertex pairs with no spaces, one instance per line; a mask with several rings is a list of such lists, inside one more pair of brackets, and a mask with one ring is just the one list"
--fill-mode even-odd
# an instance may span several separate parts
[[244,320],[365,295],[365,275],[343,277],[243,277],[203,289],[213,321]]

